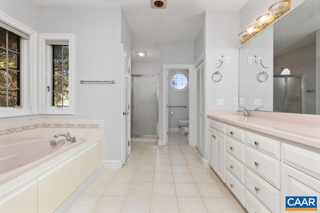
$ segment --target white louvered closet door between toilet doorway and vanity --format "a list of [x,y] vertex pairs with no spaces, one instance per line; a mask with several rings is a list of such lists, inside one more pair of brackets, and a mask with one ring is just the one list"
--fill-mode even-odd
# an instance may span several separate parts
[[196,67],[196,148],[204,154],[204,67],[203,61]]

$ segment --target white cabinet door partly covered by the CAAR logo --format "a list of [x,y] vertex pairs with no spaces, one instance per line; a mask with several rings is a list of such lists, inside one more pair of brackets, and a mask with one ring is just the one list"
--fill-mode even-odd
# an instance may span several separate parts
[[[320,204],[320,180],[317,180],[303,172],[300,172],[285,164],[281,164],[281,213],[294,213],[297,211],[285,211],[285,197],[317,197],[317,205]],[[319,211],[319,206],[318,206]],[[303,211],[298,211],[303,212]],[[312,212],[312,211],[305,211]]]

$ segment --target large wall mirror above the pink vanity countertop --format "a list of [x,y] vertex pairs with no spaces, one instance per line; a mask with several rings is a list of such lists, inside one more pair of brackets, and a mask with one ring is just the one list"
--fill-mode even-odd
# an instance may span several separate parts
[[239,103],[320,114],[319,0],[306,0],[239,48]]

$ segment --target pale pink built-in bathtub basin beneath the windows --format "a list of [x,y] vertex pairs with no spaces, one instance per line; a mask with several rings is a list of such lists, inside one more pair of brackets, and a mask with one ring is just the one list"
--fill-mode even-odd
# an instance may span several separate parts
[[[50,141],[55,140],[55,146]],[[0,145],[0,185],[85,142],[77,139],[28,138]]]

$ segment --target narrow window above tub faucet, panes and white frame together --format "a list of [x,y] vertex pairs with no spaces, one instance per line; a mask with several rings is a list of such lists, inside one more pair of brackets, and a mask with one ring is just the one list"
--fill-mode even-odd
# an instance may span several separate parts
[[39,35],[39,114],[74,114],[73,34]]

